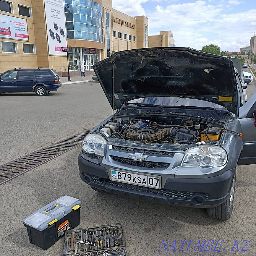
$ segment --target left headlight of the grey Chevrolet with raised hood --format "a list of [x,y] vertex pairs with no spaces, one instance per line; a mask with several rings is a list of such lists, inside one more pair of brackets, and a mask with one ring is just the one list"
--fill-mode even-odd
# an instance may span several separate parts
[[98,134],[88,134],[84,138],[82,151],[85,153],[94,153],[97,156],[103,156],[103,147],[107,141]]

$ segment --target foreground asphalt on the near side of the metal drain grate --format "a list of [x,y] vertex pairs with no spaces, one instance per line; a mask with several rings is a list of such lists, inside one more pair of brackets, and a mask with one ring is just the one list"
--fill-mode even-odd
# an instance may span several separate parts
[[[222,222],[211,219],[205,209],[174,207],[127,199],[113,194],[101,194],[92,190],[79,178],[77,157],[81,147],[43,164],[0,186],[0,255],[2,256],[61,256],[64,238],[43,251],[29,243],[24,217],[45,206],[62,195],[82,201],[78,228],[121,223],[130,256],[170,255],[248,255],[256,251],[256,179],[255,165],[239,166],[235,188],[232,217]],[[182,251],[180,240],[188,242]],[[160,246],[165,240],[176,240],[174,247],[165,251]],[[193,251],[195,240],[224,240],[221,252]],[[252,240],[234,246],[236,240]],[[212,243],[212,242],[211,242]],[[194,247],[194,250],[195,248]],[[213,247],[213,248],[214,248]],[[205,247],[204,247],[205,249]],[[203,249],[203,250],[204,250]],[[208,250],[211,247],[209,246]],[[225,249],[225,251],[223,251]],[[232,251],[233,249],[233,251]],[[220,250],[219,247],[216,250]]]

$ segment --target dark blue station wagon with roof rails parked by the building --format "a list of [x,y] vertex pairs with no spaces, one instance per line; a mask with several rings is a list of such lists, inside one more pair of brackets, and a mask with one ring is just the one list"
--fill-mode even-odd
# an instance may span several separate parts
[[0,93],[35,92],[37,96],[45,96],[60,86],[60,76],[50,68],[15,68],[0,75]]

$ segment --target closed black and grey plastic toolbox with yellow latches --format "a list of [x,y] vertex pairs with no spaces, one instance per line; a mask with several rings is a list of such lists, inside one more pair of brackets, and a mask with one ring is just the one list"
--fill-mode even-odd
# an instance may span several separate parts
[[47,250],[79,225],[81,204],[77,198],[62,196],[23,219],[30,243]]

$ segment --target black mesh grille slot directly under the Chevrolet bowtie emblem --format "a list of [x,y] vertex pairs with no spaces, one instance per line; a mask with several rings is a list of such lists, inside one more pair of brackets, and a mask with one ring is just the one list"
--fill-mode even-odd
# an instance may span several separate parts
[[138,162],[138,161],[134,161],[133,159],[119,157],[119,156],[111,156],[111,158],[114,161],[120,162],[122,164],[128,164],[128,165],[144,167],[144,168],[165,168],[169,165],[168,163],[151,162],[151,161]]

